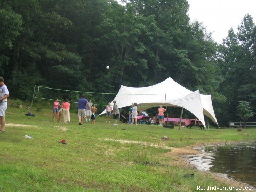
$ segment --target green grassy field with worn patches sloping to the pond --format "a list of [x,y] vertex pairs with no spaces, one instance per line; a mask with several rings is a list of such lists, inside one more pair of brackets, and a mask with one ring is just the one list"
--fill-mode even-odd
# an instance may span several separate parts
[[[256,129],[164,129],[154,125],[78,125],[52,121],[52,110],[25,116],[9,107],[0,134],[0,191],[196,191],[225,186],[210,173],[177,164],[172,147],[255,142]],[[30,135],[33,139],[24,138]],[[164,136],[170,140],[162,140]],[[67,145],[58,143],[61,139]],[[194,173],[193,178],[183,175]]]

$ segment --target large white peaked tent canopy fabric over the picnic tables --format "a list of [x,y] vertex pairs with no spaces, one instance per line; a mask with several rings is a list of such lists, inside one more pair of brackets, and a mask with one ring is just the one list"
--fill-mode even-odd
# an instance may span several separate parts
[[[194,114],[205,126],[204,115],[216,124],[211,95],[202,95],[199,90],[193,92],[175,82],[171,77],[165,81],[148,87],[127,87],[121,85],[113,101],[117,101],[119,108],[137,103],[139,111],[168,104],[168,106],[184,107]],[[113,105],[113,101],[111,105]],[[106,113],[103,111],[100,115]]]

